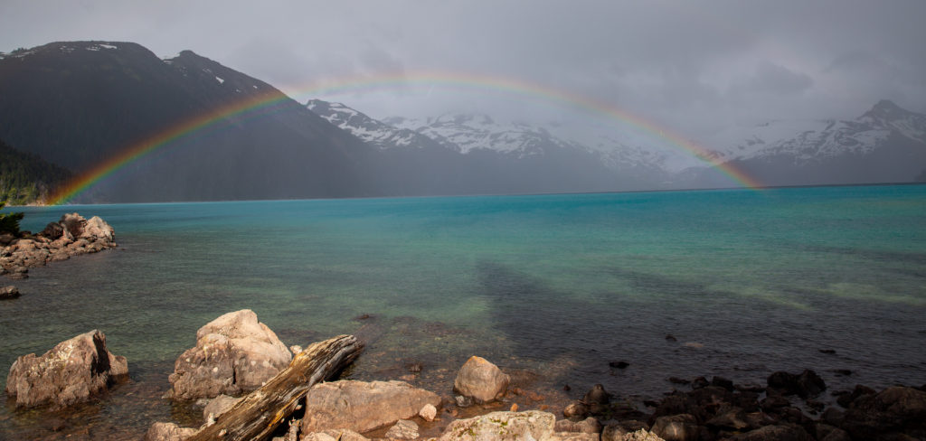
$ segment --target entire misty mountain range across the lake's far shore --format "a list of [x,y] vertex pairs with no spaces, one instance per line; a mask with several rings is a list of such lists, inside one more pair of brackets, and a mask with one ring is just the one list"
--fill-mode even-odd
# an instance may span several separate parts
[[[298,104],[190,51],[160,59],[136,43],[0,53],[0,97],[0,139],[56,170],[81,174],[150,140],[166,141],[114,168],[77,202],[738,185],[707,163],[680,170],[694,163],[682,157],[688,153],[613,129],[569,131],[480,114],[377,120],[344,104]],[[180,129],[191,121],[198,125]],[[767,186],[926,180],[926,116],[889,101],[854,120],[774,120],[732,127],[702,144],[715,162]]]

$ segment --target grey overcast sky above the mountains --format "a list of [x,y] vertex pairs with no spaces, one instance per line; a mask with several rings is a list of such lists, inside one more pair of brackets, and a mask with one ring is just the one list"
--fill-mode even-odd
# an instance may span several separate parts
[[0,0],[0,51],[53,41],[190,49],[305,102],[371,116],[581,117],[543,99],[411,81],[307,93],[347,78],[449,72],[592,97],[699,139],[734,123],[926,113],[926,1]]

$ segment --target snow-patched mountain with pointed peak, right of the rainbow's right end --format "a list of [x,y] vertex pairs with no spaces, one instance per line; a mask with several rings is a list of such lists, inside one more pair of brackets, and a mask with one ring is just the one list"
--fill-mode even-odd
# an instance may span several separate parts
[[[854,120],[776,120],[719,138],[720,161],[769,186],[913,182],[926,173],[926,115],[887,100]],[[686,173],[705,180],[702,170]]]

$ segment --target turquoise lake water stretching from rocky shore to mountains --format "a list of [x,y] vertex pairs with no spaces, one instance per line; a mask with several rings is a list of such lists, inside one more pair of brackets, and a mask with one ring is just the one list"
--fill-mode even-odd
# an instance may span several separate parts
[[553,410],[595,383],[657,398],[669,376],[764,385],[810,368],[830,391],[926,383],[923,185],[18,211],[33,231],[100,215],[119,250],[9,281],[23,295],[0,302],[4,372],[98,328],[131,379],[67,412],[9,401],[7,437],[133,439],[155,421],[198,423],[194,407],[160,398],[173,361],[200,326],[244,308],[287,345],[369,338],[352,378],[397,379],[420,362],[411,382],[449,396],[476,354]]

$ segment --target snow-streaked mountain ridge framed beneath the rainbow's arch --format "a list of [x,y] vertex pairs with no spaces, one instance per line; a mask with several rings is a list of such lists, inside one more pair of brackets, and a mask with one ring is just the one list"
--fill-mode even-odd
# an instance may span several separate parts
[[[652,190],[666,176],[658,155],[640,155],[649,161],[629,160],[638,153],[635,149],[597,151],[523,122],[498,122],[485,115],[377,120],[344,104],[311,100],[306,105],[333,125],[376,146],[382,163],[389,165],[385,168],[401,170],[398,176],[381,181],[404,179],[405,191]],[[429,177],[422,179],[421,173]]]

